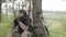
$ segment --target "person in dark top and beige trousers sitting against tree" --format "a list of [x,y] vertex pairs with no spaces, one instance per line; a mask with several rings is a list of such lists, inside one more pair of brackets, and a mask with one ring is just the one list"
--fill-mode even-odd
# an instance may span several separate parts
[[[23,23],[23,26],[19,25],[20,22]],[[29,34],[33,29],[31,18],[26,15],[26,11],[23,9],[19,10],[19,17],[16,17],[13,23],[14,24],[7,37],[11,37],[14,33],[18,33],[18,37],[24,37],[25,33]],[[29,29],[26,29],[26,27],[24,28],[24,26],[26,26]]]

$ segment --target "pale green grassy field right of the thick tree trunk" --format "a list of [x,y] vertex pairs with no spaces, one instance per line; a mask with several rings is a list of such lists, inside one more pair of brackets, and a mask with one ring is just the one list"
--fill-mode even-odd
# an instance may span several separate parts
[[66,16],[47,15],[44,20],[51,37],[66,37]]

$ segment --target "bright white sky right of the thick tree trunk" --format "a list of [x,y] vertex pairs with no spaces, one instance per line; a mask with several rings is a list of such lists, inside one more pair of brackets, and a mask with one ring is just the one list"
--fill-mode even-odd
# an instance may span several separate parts
[[43,0],[42,9],[47,11],[66,11],[66,0]]

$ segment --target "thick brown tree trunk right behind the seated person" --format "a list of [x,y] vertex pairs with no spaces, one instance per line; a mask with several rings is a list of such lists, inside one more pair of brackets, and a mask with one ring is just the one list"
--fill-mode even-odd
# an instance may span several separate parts
[[33,24],[40,23],[42,15],[42,0],[33,0]]

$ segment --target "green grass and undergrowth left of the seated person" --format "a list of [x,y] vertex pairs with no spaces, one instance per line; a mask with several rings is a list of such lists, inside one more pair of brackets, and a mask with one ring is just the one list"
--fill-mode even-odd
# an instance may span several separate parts
[[[11,17],[12,18],[12,17]],[[7,18],[7,15],[2,15],[2,22],[0,23],[0,37],[6,37],[11,26],[12,20]]]

